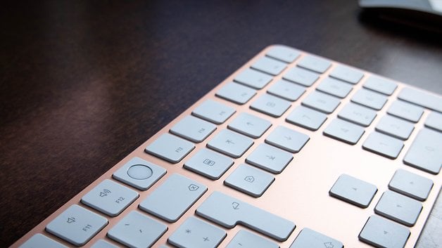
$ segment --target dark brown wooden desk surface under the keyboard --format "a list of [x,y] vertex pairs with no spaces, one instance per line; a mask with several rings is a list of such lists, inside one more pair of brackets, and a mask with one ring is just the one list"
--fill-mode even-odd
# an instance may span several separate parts
[[[2,4],[0,247],[269,44],[442,93],[441,35],[366,20],[355,1],[185,2]],[[435,225],[420,247],[441,243]]]

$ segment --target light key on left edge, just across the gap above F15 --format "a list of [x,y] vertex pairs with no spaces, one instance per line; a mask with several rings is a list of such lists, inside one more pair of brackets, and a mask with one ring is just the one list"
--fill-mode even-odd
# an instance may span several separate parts
[[256,91],[247,86],[231,82],[225,84],[215,95],[232,103],[243,105],[256,95]]

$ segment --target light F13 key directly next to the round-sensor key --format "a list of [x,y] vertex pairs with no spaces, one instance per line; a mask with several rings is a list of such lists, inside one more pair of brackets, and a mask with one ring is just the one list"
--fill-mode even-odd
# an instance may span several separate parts
[[185,141],[169,133],[163,133],[144,150],[151,155],[177,164],[186,157],[191,150],[194,150],[194,148],[194,143]]

